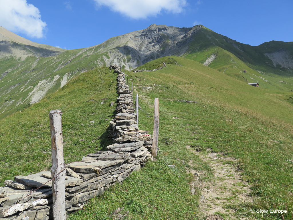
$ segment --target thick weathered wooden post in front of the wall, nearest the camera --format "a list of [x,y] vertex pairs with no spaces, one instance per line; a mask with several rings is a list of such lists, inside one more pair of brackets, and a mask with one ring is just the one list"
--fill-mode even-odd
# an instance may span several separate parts
[[54,220],[65,220],[65,164],[63,158],[62,111],[51,110],[50,133],[52,147],[52,190]]

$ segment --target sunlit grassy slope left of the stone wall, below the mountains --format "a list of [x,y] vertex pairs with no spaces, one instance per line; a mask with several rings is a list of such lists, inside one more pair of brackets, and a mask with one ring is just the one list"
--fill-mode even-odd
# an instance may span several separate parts
[[[41,102],[1,120],[1,185],[16,175],[49,169],[51,155],[42,152],[51,151],[49,112],[52,109],[63,112],[65,163],[81,160],[87,153],[108,144],[109,121],[105,119],[113,118],[115,106],[110,107],[109,103],[117,97],[117,76],[112,72],[105,67],[83,73]],[[104,104],[100,104],[101,100]]]

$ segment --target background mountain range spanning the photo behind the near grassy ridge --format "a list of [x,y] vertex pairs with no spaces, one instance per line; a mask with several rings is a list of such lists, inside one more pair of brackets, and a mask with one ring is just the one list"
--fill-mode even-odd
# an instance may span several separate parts
[[[250,46],[197,25],[192,28],[151,25],[76,50],[31,42],[0,27],[0,117],[34,104],[72,77],[100,66],[133,70],[164,56],[195,60],[242,83],[292,96],[293,42]],[[209,71],[207,67],[207,72]]]

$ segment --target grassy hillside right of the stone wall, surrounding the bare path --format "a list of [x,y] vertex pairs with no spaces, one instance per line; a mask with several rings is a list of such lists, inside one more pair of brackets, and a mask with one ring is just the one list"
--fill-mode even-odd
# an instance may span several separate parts
[[[200,191],[190,195],[191,178],[186,168],[204,173],[200,177],[204,181],[212,180],[213,173],[207,163],[185,148],[186,145],[203,152],[209,148],[238,160],[230,164],[242,170],[243,179],[253,184],[251,196],[254,198],[253,203],[231,203],[231,199],[238,197],[237,191],[233,198],[227,198],[226,207],[234,209],[239,218],[282,219],[280,214],[251,214],[251,208],[287,209],[291,213],[293,137],[289,126],[292,121],[286,111],[292,106],[287,106],[282,99],[263,99],[267,93],[264,89],[219,75],[197,62],[171,58],[183,67],[167,65],[155,72],[127,72],[143,109],[139,114],[139,127],[149,133],[153,129],[154,98],[159,97],[158,160],[130,175],[122,186],[116,185],[93,199],[85,210],[70,219],[112,219],[111,213],[118,207],[130,211],[126,219],[203,219],[198,211]],[[156,66],[158,62],[148,65]],[[247,100],[255,94],[260,97],[254,101],[260,103],[252,106]],[[275,116],[267,109],[274,101],[282,104],[274,110]],[[284,120],[289,123],[287,127]],[[170,164],[175,165],[175,169],[167,166]],[[285,219],[292,219],[292,215],[285,215]]]

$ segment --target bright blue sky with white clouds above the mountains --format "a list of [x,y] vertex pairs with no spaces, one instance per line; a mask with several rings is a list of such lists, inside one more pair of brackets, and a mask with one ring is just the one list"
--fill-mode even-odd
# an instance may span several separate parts
[[151,24],[202,24],[250,45],[293,41],[292,0],[0,0],[0,26],[34,42],[90,47]]

